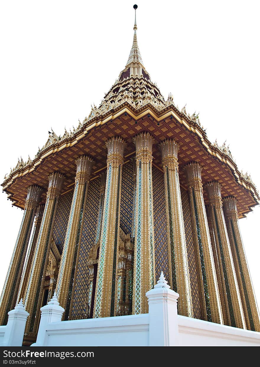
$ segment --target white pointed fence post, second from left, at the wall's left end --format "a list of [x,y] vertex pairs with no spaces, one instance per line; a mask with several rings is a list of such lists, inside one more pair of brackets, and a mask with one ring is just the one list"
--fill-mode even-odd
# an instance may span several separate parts
[[37,340],[36,343],[31,346],[45,345],[47,325],[52,322],[61,321],[64,311],[64,308],[59,305],[56,292],[54,292],[53,298],[51,298],[50,302],[48,302],[46,306],[41,307],[41,319]]

